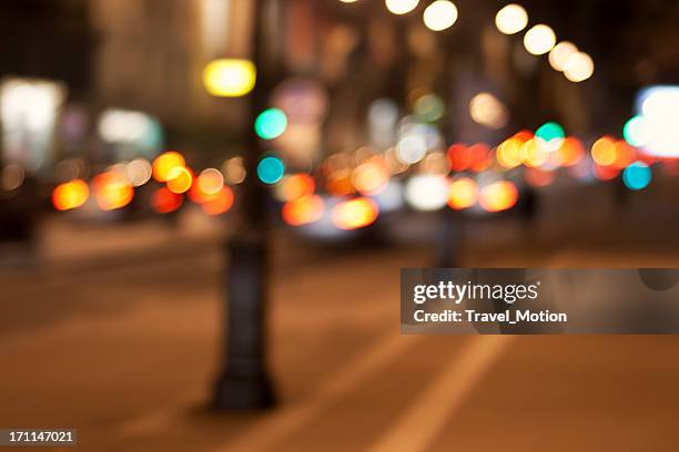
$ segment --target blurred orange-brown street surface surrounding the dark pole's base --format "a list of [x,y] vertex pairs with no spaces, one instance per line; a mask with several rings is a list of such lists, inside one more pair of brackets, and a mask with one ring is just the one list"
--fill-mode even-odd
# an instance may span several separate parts
[[[472,243],[462,265],[679,264],[672,248],[643,242],[597,249],[635,223],[611,235],[606,215],[592,219],[568,250],[521,238],[513,218],[470,224],[501,238]],[[560,234],[540,225],[533,237]],[[677,338],[401,336],[396,274],[430,265],[430,247],[318,249],[282,233],[268,340],[283,403],[215,413],[221,236],[170,236],[171,246],[2,280],[12,302],[0,320],[0,361],[11,362],[0,424],[75,427],[82,450],[97,451],[666,450],[679,440]]]

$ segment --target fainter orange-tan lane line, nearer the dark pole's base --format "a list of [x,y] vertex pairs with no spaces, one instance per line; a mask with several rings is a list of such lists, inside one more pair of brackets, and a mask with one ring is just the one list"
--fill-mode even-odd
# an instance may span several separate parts
[[313,421],[330,404],[353,391],[363,380],[373,376],[379,368],[404,353],[406,349],[422,340],[418,336],[391,333],[374,343],[366,352],[349,361],[318,392],[311,396],[308,402],[283,408],[272,412],[237,436],[224,444],[221,451],[266,451],[275,450],[281,440],[295,430]]

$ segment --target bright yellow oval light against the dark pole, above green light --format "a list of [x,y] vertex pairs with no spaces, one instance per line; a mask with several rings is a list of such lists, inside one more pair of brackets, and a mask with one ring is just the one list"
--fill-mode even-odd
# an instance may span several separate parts
[[255,81],[256,69],[249,60],[214,60],[203,72],[203,83],[207,92],[221,97],[245,95],[252,91]]

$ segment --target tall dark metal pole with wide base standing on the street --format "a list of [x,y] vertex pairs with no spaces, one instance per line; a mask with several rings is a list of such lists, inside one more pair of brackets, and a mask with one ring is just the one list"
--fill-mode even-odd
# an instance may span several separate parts
[[264,148],[254,133],[256,115],[266,107],[272,88],[264,49],[266,0],[253,0],[252,60],[257,82],[251,94],[249,150],[239,232],[226,244],[226,331],[223,368],[213,404],[217,409],[243,410],[272,407],[275,401],[265,360],[265,323],[268,280],[267,192],[257,181],[256,166]]

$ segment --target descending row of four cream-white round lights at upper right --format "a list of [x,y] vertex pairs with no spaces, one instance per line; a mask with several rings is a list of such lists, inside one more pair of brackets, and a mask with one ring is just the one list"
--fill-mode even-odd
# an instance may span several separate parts
[[[504,34],[516,34],[528,25],[528,13],[516,3],[507,4],[495,16],[495,25]],[[544,23],[531,27],[524,34],[524,47],[528,53],[549,53],[549,64],[563,72],[566,79],[578,83],[594,74],[594,61],[569,41],[557,43],[554,30]]]

